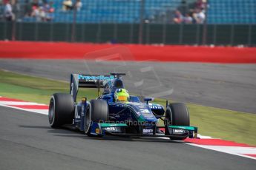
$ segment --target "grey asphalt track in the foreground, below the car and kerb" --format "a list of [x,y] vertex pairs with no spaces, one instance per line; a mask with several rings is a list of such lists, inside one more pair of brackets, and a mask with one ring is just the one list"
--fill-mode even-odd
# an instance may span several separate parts
[[5,169],[255,169],[256,161],[159,138],[105,139],[51,129],[46,115],[0,106]]

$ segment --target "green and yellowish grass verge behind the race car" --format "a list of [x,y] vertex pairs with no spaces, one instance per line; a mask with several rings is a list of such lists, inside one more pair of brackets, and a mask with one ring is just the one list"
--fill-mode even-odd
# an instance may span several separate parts
[[[69,92],[69,84],[0,70],[0,95],[9,98],[48,103],[55,92]],[[78,100],[96,98],[96,89],[79,89]],[[163,104],[163,99],[156,99]],[[191,125],[199,127],[201,135],[248,143],[256,146],[256,114],[218,109],[187,103]]]

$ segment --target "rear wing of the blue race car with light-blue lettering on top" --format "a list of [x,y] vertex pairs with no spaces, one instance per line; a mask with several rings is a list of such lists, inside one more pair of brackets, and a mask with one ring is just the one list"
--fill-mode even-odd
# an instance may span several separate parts
[[73,96],[73,101],[76,102],[76,95],[80,88],[97,88],[98,95],[99,89],[104,88],[108,81],[115,78],[115,75],[83,75],[71,74],[70,75],[70,94]]

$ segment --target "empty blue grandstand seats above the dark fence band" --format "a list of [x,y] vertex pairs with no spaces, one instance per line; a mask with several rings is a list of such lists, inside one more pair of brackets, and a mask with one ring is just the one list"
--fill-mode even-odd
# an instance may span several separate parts
[[[63,0],[55,0],[54,22],[72,22],[73,11],[62,11]],[[171,23],[174,10],[193,7],[195,0],[82,0],[82,8],[76,14],[78,23],[140,23],[143,18],[152,23]],[[20,3],[25,3],[24,0]],[[185,10],[184,10],[185,9]],[[36,21],[24,17],[23,21]],[[255,24],[256,0],[209,0],[209,24]]]

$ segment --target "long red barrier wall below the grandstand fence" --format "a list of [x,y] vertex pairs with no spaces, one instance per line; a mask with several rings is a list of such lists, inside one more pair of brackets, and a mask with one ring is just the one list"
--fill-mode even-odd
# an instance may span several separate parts
[[[95,60],[99,57],[105,57],[99,51],[111,49],[111,52],[115,55],[119,53],[119,47],[130,51],[133,55],[133,61],[256,63],[255,47],[191,47],[33,41],[0,41],[0,58]],[[87,55],[90,52],[96,52],[96,55]],[[119,59],[112,58],[111,60]],[[124,54],[122,60],[129,61],[131,56]]]

